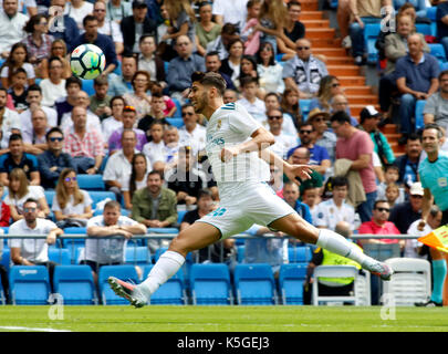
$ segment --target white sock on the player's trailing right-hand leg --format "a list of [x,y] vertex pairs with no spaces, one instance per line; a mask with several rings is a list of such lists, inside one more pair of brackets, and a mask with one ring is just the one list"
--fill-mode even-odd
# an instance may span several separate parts
[[364,254],[356,246],[347,241],[343,236],[329,229],[320,230],[316,244],[333,253],[350,258],[360,263],[363,268],[368,268],[369,264],[376,262],[373,258]]

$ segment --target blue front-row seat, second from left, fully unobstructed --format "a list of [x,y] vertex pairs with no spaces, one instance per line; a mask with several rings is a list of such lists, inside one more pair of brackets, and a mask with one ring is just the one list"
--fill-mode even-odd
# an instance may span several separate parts
[[53,285],[66,305],[97,304],[95,283],[88,266],[56,266]]

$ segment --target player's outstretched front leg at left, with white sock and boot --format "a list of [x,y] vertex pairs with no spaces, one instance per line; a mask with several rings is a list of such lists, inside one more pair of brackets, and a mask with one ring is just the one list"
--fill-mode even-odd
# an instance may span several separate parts
[[108,283],[115,293],[125,298],[136,308],[144,306],[150,295],[184,266],[188,252],[205,248],[217,242],[220,231],[206,222],[195,222],[181,231],[160,256],[148,277],[139,285],[131,284],[111,277]]

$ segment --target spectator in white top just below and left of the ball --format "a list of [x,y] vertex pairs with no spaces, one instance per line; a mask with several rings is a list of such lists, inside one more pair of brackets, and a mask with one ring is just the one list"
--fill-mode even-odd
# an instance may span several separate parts
[[53,107],[55,102],[67,95],[66,81],[63,76],[63,62],[59,56],[49,59],[49,77],[43,79],[39,86],[42,90],[42,105]]

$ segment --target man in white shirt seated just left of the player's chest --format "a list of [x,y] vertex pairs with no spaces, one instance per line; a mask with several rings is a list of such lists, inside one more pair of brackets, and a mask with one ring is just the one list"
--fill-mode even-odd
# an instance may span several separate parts
[[184,126],[179,128],[179,144],[190,146],[192,154],[198,154],[206,148],[206,128],[198,123],[199,117],[190,103],[183,105],[181,115]]

